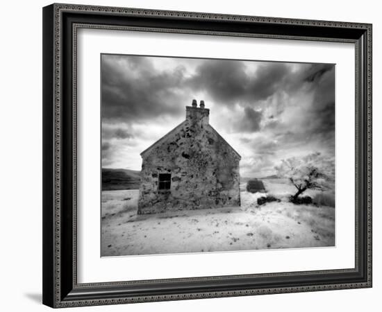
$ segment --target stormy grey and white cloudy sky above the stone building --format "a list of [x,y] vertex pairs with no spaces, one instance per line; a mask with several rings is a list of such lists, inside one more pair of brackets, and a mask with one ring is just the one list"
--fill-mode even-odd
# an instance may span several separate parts
[[140,170],[140,153],[204,100],[210,125],[240,153],[240,174],[281,159],[334,156],[333,64],[101,56],[102,166]]

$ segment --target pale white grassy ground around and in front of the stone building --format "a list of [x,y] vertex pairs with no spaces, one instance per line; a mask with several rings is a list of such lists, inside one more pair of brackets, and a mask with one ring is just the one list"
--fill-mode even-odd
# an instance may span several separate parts
[[[102,192],[101,255],[169,254],[334,245],[334,208],[294,205],[283,180],[265,187],[282,198],[258,206],[241,186],[241,207],[138,216],[138,190]],[[307,195],[313,196],[314,193]]]

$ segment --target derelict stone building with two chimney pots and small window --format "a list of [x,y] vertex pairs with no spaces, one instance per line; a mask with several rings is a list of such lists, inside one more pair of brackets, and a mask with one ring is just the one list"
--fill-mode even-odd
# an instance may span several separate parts
[[142,156],[138,214],[240,206],[240,155],[209,124],[204,101]]

